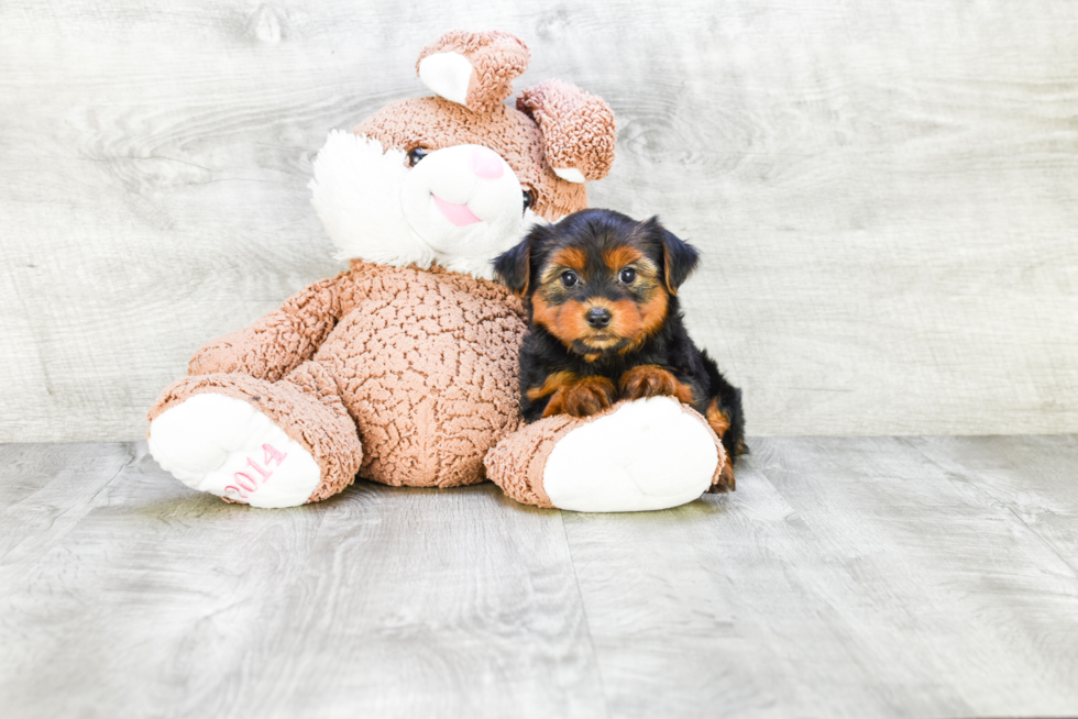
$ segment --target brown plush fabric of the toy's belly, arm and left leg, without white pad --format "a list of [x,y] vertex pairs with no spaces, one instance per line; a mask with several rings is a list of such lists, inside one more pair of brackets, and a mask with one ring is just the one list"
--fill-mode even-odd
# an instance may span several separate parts
[[[360,476],[385,484],[474,484],[487,450],[521,421],[525,329],[520,300],[501,285],[354,261],[199,350],[195,376],[169,387],[151,419],[194,394],[220,391],[258,402],[331,475],[351,466],[343,452],[362,454]],[[327,408],[345,410],[348,423]]]

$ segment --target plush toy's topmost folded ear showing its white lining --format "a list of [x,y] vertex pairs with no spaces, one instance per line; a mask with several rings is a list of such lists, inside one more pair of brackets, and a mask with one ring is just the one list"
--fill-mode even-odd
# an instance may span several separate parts
[[513,92],[513,78],[528,69],[531,51],[497,30],[448,32],[424,47],[416,71],[437,95],[473,112],[492,112]]

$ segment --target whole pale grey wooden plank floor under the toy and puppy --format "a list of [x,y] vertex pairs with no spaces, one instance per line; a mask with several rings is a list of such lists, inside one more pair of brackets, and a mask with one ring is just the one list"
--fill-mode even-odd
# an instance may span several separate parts
[[1078,714],[1078,436],[752,447],[734,495],[603,516],[0,445],[0,714]]

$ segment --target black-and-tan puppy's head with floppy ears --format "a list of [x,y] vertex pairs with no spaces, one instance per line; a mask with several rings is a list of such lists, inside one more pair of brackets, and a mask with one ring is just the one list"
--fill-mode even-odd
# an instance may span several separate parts
[[658,332],[697,259],[658,218],[636,222],[583,210],[535,228],[494,268],[530,301],[537,324],[593,361],[635,350]]

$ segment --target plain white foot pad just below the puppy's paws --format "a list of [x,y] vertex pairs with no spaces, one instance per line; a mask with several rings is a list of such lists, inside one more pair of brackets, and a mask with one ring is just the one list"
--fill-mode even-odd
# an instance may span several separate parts
[[652,397],[559,440],[542,485],[559,509],[646,511],[696,499],[717,467],[718,451],[702,422],[675,399]]

